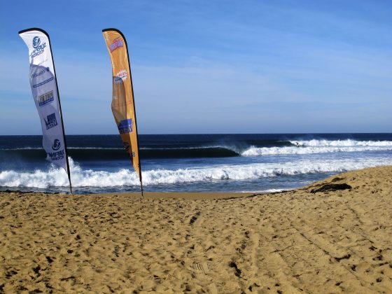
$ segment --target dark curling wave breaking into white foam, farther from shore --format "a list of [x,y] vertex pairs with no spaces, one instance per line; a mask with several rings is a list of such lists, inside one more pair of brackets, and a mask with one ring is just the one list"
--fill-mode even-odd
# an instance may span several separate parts
[[[195,146],[187,148],[141,148],[141,158],[229,158],[237,156],[304,155],[315,153],[392,151],[392,141],[308,140],[275,141],[267,146]],[[127,160],[123,148],[69,148],[75,160]],[[0,149],[1,158],[42,160],[43,148]]]

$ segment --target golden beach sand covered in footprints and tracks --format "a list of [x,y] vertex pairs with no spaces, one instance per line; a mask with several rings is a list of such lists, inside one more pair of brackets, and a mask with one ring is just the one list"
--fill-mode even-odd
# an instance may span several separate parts
[[0,193],[0,293],[392,293],[391,221],[392,167],[274,194]]

